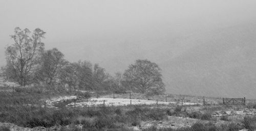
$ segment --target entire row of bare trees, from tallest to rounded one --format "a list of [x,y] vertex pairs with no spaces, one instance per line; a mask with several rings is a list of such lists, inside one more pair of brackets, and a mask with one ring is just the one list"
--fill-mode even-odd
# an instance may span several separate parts
[[134,91],[156,94],[165,91],[161,69],[148,60],[137,60],[124,73],[114,76],[98,64],[88,61],[69,62],[57,48],[45,50],[42,39],[46,32],[15,28],[14,43],[6,48],[7,64],[3,73],[7,80],[20,86],[46,85],[50,89],[65,87],[83,90]]

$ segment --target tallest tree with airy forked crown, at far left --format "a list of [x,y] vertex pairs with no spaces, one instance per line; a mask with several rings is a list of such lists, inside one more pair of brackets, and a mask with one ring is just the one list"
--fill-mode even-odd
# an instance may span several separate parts
[[28,29],[14,29],[11,39],[14,44],[6,48],[6,70],[5,75],[21,86],[26,86],[31,82],[34,68],[38,64],[39,57],[44,50],[44,38],[46,32],[35,29],[31,36]]

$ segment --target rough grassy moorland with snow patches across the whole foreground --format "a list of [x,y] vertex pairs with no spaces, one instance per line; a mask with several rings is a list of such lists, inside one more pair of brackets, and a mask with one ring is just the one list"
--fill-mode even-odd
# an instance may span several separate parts
[[[49,92],[43,87],[5,89],[0,92],[1,130],[256,129],[253,101],[246,105],[222,104],[219,98],[205,97],[203,105],[201,97],[173,94],[148,98],[132,93],[130,99],[130,93],[115,94],[115,98],[111,93],[99,93],[96,98],[93,91]],[[127,99],[132,100],[132,105]]]

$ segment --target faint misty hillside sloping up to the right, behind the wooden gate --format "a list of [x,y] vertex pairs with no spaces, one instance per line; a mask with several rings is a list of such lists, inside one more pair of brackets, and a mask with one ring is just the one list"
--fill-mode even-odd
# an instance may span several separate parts
[[256,23],[190,39],[196,46],[161,63],[168,92],[256,98]]

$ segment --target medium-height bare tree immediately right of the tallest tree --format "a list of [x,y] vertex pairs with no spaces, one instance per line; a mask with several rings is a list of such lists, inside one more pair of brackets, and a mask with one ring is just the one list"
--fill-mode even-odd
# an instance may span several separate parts
[[36,78],[52,87],[57,81],[60,69],[67,63],[63,57],[57,48],[46,50],[41,56]]

